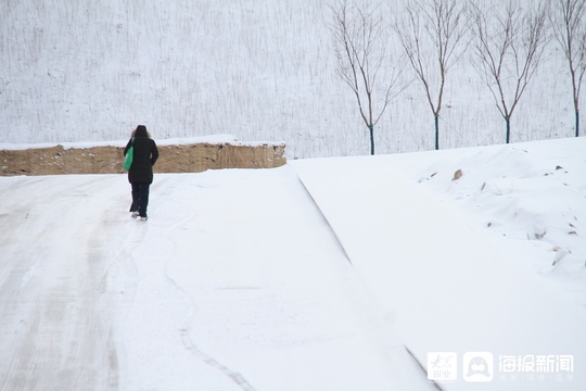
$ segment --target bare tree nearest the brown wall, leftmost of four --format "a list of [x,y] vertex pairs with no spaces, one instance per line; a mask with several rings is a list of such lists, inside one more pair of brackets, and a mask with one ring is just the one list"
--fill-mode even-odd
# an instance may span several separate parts
[[380,10],[348,5],[346,0],[340,0],[331,10],[336,72],[356,97],[370,133],[370,153],[374,154],[374,126],[402,90],[398,83],[402,71],[387,59],[386,28]]

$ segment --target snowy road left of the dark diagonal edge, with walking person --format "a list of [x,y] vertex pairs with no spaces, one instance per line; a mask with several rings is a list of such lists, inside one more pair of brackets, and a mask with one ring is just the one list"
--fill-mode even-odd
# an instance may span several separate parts
[[0,195],[0,390],[431,389],[290,167]]

